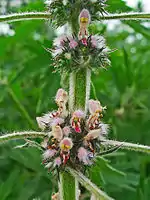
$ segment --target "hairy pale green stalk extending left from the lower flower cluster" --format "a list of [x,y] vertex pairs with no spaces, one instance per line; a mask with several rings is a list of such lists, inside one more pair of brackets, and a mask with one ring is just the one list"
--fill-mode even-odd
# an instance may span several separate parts
[[26,138],[44,138],[46,133],[35,131],[14,132],[0,136],[0,144],[9,142],[10,140],[26,139]]

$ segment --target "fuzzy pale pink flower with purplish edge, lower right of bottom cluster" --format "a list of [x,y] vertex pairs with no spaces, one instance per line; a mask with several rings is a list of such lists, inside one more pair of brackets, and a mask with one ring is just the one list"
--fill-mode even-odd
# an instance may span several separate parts
[[84,147],[80,147],[78,149],[78,158],[80,162],[83,162],[85,165],[91,165],[92,162],[90,158],[92,158],[93,154],[86,150]]

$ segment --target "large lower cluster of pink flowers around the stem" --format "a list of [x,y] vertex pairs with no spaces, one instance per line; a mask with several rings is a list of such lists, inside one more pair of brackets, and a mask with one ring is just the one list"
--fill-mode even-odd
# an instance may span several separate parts
[[46,168],[62,168],[66,165],[82,169],[92,165],[100,152],[100,141],[105,139],[108,125],[101,119],[106,107],[99,101],[89,100],[89,113],[82,110],[68,111],[68,94],[59,89],[55,101],[58,110],[37,117],[39,127],[47,131],[42,142],[43,163]]

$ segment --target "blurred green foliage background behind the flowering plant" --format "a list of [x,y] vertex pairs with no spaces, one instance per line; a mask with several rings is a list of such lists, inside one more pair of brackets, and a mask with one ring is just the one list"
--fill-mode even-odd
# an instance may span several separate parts
[[[17,4],[17,5],[16,5]],[[142,11],[123,0],[108,0],[109,12]],[[43,1],[1,0],[1,14],[44,10]],[[91,25],[104,34],[112,67],[93,75],[96,96],[107,105],[104,121],[109,138],[150,145],[150,24],[107,22]],[[36,116],[53,110],[60,76],[52,73],[51,47],[55,30],[44,21],[0,24],[0,132],[38,130]],[[95,97],[94,89],[91,97]],[[0,200],[49,200],[57,191],[56,177],[47,173],[36,149],[14,149],[23,143],[0,146]],[[89,171],[91,180],[116,200],[150,199],[150,156],[118,151],[99,159]],[[82,188],[81,199],[89,199]]]

